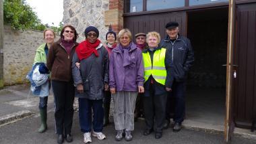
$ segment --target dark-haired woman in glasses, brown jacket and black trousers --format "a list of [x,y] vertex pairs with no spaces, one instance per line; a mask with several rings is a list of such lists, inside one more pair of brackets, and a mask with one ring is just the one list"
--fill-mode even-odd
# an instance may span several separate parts
[[71,71],[71,58],[77,47],[77,31],[71,25],[61,30],[61,38],[55,42],[47,57],[47,67],[51,70],[51,82],[55,96],[55,121],[58,134],[57,143],[73,141],[73,100],[75,87]]

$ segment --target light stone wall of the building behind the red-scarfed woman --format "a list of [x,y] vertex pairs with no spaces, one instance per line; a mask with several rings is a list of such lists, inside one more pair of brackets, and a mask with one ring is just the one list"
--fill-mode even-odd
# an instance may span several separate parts
[[84,40],[84,29],[90,25],[97,27],[100,40],[105,40],[109,23],[104,23],[104,11],[108,10],[108,0],[64,0],[63,7],[63,22],[75,27],[78,42]]

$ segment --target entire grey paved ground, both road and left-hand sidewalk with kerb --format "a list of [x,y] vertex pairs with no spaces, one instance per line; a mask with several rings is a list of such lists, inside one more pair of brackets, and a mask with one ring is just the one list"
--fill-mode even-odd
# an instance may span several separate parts
[[[29,96],[29,88],[25,85],[11,86],[0,90],[0,121],[9,114],[19,115],[21,111],[28,113],[30,117],[20,117],[20,121],[7,123],[0,123],[0,143],[56,143],[55,135],[55,120],[54,120],[54,106],[53,96],[49,97],[49,119],[48,126],[49,130],[46,133],[37,133],[39,127],[38,117],[38,98]],[[14,118],[15,119],[15,118]],[[5,121],[6,122],[6,121]],[[203,131],[192,131],[189,129],[182,129],[179,133],[173,133],[172,129],[167,129],[163,133],[162,139],[154,139],[154,133],[149,136],[143,136],[142,131],[144,127],[144,121],[139,120],[135,123],[135,131],[133,133],[133,141],[126,142],[115,141],[115,127],[113,123],[108,127],[104,128],[104,133],[107,139],[100,141],[98,139],[92,139],[92,143],[138,143],[138,144],[153,144],[153,143],[224,143],[223,134],[217,133],[205,133]],[[74,141],[73,143],[83,143],[83,135],[79,131],[78,114],[75,112],[73,117],[73,128],[72,134]],[[66,142],[65,142],[66,143]],[[256,140],[245,139],[242,137],[233,137],[231,143],[247,143],[255,144]]]

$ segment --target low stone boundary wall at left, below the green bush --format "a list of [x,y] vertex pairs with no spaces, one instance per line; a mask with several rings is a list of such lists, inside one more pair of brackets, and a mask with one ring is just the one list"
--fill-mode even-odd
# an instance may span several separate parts
[[5,85],[27,82],[36,48],[44,42],[41,31],[13,31],[4,26],[3,81]]

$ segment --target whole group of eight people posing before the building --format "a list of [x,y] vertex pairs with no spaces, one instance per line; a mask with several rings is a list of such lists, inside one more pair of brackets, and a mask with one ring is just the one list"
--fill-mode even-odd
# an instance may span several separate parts
[[[166,24],[166,38],[161,41],[156,31],[137,33],[133,43],[129,29],[115,33],[110,27],[106,43],[99,39],[96,27],[85,29],[86,40],[77,43],[77,31],[71,25],[61,30],[61,38],[54,42],[55,32],[44,30],[44,40],[36,50],[34,64],[39,72],[49,74],[55,98],[55,127],[57,143],[73,141],[73,100],[79,102],[79,125],[84,143],[92,136],[106,139],[103,127],[109,123],[110,100],[113,98],[114,123],[121,141],[132,140],[134,121],[145,118],[143,135],[155,132],[162,137],[170,124],[170,97],[175,99],[174,131],[181,129],[185,115],[185,80],[193,64],[193,50],[189,40],[179,35],[179,24]],[[41,66],[42,65],[42,66]],[[47,96],[40,96],[41,126],[47,129]],[[93,113],[92,113],[93,111]]]

